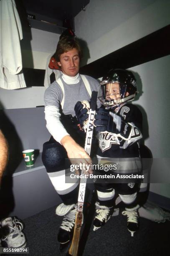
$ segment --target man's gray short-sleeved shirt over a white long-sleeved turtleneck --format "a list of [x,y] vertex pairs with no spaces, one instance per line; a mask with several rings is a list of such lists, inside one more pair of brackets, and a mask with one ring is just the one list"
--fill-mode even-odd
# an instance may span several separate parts
[[[85,77],[89,82],[91,91],[98,91],[99,82],[92,77]],[[53,138],[59,143],[61,143],[61,139],[64,136],[69,135],[60,121],[61,111],[64,115],[71,114],[74,116],[74,106],[76,102],[82,100],[88,100],[90,102],[91,98],[79,73],[75,77],[62,74],[60,78],[64,89],[64,99],[63,90],[56,81],[46,89],[44,95],[46,127]],[[61,110],[62,100],[64,100],[64,102]],[[100,103],[98,102],[98,107],[99,106]]]

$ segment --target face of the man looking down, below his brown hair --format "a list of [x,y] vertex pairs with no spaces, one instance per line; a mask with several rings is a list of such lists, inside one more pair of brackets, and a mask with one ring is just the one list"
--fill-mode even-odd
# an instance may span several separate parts
[[70,77],[75,77],[79,72],[79,63],[79,52],[76,48],[73,48],[70,51],[64,52],[60,55],[58,66],[61,67],[63,74],[66,74]]

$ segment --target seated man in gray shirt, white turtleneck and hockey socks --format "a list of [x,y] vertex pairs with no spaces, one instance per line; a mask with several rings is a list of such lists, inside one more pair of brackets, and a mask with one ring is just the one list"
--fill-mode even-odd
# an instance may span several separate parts
[[65,182],[65,159],[91,163],[84,150],[85,134],[77,126],[74,106],[77,100],[90,101],[91,92],[98,91],[99,84],[92,77],[79,74],[80,57],[80,45],[74,34],[61,35],[55,59],[62,74],[44,95],[46,126],[52,137],[43,145],[42,160],[53,187],[63,201],[56,209],[56,214],[64,216],[58,233],[58,241],[62,244],[71,240],[79,191],[78,179],[73,183]]

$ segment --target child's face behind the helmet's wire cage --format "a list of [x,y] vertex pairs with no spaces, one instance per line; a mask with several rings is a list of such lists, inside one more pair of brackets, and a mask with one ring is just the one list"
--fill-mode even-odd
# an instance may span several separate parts
[[119,83],[106,84],[106,99],[117,100],[120,98]]

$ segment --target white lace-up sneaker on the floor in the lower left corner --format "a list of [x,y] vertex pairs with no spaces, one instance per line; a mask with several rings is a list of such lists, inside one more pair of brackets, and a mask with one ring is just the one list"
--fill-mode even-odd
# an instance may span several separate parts
[[26,239],[23,232],[23,224],[15,217],[9,217],[2,220],[2,228],[4,230],[1,238],[3,247],[8,248],[24,248]]

